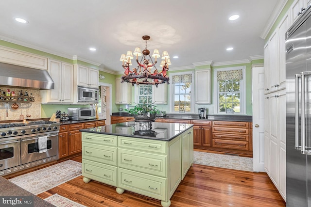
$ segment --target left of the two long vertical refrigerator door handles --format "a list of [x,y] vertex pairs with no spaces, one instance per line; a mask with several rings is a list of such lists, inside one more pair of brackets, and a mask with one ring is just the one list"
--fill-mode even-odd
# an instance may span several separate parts
[[301,150],[299,145],[299,78],[300,74],[295,75],[295,149]]

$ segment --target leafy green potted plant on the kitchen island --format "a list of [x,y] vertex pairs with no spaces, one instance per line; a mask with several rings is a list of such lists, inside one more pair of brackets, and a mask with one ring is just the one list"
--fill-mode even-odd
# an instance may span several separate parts
[[130,114],[134,115],[135,120],[154,120],[159,110],[153,103],[139,103],[132,109],[125,109]]

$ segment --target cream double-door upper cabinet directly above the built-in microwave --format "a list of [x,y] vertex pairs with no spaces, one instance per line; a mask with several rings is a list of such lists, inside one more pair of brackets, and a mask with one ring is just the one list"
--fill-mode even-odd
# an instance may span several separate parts
[[98,88],[98,70],[78,65],[78,85]]

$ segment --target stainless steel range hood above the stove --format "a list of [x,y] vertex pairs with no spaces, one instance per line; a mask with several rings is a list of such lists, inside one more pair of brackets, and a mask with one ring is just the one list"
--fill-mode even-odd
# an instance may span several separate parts
[[0,63],[0,85],[54,89],[54,81],[48,71],[5,63]]

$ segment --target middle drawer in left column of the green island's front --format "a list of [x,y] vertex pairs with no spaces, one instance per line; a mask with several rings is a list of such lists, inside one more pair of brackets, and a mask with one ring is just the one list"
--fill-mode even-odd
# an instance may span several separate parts
[[117,166],[117,147],[82,143],[82,158]]

